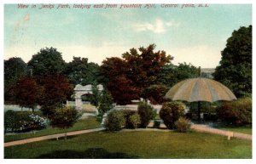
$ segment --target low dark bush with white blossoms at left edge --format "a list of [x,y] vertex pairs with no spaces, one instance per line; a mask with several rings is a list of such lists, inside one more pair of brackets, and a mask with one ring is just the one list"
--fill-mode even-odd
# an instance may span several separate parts
[[34,115],[29,111],[12,111],[4,113],[4,130],[5,132],[29,132],[40,130],[46,127],[46,119]]

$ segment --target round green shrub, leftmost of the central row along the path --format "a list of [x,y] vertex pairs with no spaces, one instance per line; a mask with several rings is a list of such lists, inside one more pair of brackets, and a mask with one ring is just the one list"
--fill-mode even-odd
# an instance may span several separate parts
[[105,127],[108,131],[119,131],[125,126],[124,113],[121,110],[113,110],[108,113],[108,117],[105,121]]

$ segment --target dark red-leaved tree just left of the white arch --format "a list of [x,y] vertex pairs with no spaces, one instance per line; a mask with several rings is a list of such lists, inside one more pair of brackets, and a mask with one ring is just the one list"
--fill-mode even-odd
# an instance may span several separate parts
[[43,82],[44,97],[41,101],[41,105],[43,105],[41,110],[44,115],[50,117],[55,107],[61,107],[71,97],[73,87],[67,77],[60,74],[45,76]]

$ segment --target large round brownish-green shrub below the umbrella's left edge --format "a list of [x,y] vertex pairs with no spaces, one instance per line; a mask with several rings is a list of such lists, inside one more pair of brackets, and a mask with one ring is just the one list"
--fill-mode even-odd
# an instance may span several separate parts
[[160,118],[164,121],[167,128],[175,127],[175,122],[180,116],[184,115],[184,105],[179,102],[165,103],[160,110]]

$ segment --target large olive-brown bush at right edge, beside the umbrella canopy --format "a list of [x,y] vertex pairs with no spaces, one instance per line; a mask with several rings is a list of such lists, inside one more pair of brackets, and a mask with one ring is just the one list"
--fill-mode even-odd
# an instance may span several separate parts
[[232,102],[224,102],[216,111],[222,122],[243,125],[252,124],[252,108],[252,99],[242,98]]

